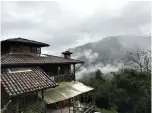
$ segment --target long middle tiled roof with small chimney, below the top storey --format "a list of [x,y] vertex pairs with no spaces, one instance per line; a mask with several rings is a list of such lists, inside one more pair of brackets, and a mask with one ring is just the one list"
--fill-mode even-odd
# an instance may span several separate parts
[[46,55],[37,56],[34,54],[6,54],[1,57],[1,65],[23,65],[23,64],[67,64],[67,63],[83,63],[83,61],[66,59],[63,57]]

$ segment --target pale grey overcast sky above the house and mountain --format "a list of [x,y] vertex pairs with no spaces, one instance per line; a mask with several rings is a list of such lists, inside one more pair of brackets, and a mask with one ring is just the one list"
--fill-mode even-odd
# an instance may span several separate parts
[[2,2],[2,40],[22,37],[60,52],[112,35],[150,33],[150,2],[60,0]]

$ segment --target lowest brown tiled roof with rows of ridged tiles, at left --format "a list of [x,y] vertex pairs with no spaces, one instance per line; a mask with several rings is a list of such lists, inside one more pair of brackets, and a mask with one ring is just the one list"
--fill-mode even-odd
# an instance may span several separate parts
[[9,96],[54,87],[57,84],[39,67],[31,67],[31,71],[10,73],[7,69],[1,72],[1,84]]

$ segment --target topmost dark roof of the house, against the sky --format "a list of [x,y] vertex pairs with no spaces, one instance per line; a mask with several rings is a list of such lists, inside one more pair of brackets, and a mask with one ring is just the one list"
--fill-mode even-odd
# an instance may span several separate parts
[[42,42],[38,42],[38,41],[34,41],[34,40],[29,40],[29,39],[24,39],[24,38],[20,38],[20,37],[19,38],[10,38],[10,39],[1,41],[1,43],[3,43],[3,42],[28,43],[28,44],[38,45],[41,47],[49,46],[49,44],[46,44],[46,43],[42,43]]

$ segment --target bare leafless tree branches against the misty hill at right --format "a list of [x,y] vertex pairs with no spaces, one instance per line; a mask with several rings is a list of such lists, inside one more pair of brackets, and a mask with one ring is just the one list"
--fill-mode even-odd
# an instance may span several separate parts
[[136,53],[128,52],[124,61],[127,68],[151,73],[151,51],[149,50],[137,51]]

